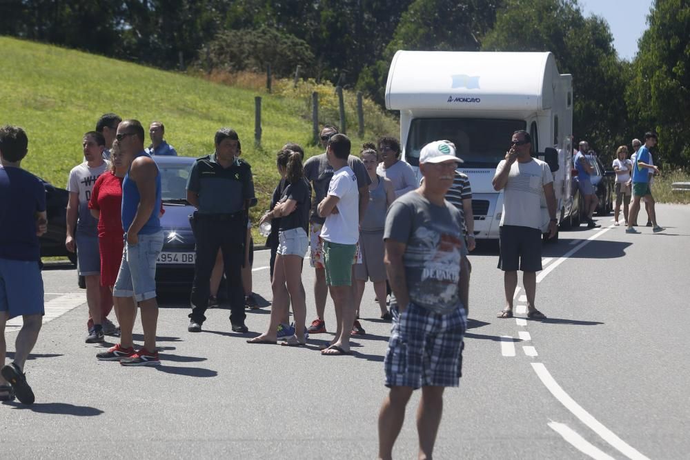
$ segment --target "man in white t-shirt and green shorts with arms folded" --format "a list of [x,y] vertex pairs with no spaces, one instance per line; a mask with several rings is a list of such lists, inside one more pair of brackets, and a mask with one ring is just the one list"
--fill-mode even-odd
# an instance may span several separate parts
[[355,321],[352,292],[352,260],[359,240],[359,190],[357,176],[348,166],[351,143],[345,134],[328,141],[326,157],[333,167],[333,178],[326,198],[319,203],[319,216],[326,219],[321,229],[324,240],[326,283],[335,305],[337,331],[322,354],[350,354],[350,336]]

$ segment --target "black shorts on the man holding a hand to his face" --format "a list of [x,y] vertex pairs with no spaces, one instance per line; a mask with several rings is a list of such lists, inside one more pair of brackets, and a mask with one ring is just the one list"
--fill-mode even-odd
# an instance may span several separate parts
[[501,226],[498,268],[504,272],[542,270],[542,230],[531,227]]

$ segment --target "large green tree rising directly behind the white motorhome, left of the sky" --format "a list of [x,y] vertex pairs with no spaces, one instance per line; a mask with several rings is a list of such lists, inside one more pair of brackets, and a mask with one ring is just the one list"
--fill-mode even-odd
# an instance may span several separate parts
[[[506,0],[482,50],[550,51],[558,70],[573,74],[573,134],[599,152],[624,143],[627,113],[624,65],[607,22],[583,17],[577,0]],[[515,72],[520,63],[515,63]]]

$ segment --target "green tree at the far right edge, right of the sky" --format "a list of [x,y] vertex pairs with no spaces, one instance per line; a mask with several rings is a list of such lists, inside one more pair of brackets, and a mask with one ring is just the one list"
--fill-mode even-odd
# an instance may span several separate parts
[[[690,4],[656,0],[638,42],[626,100],[639,133],[655,129],[664,163],[690,161]],[[658,159],[655,157],[655,163]]]

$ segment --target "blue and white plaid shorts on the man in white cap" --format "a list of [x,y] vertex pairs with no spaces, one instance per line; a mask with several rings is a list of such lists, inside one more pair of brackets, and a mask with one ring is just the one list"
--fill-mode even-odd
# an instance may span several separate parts
[[391,306],[391,312],[386,386],[458,386],[467,327],[464,308],[440,314],[410,303],[402,315],[397,306]]

